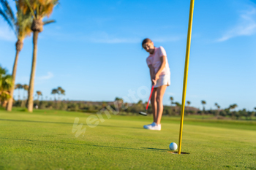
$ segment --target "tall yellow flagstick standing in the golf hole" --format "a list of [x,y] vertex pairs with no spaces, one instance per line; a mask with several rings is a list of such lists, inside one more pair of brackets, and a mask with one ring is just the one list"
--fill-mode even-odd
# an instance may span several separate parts
[[178,140],[178,154],[181,154],[181,139],[182,139],[182,129],[183,129],[184,110],[185,110],[186,91],[187,91],[187,74],[189,72],[189,53],[190,53],[190,42],[191,42],[191,34],[192,34],[194,4],[195,4],[195,0],[191,0],[190,11],[189,11],[189,29],[187,31],[187,50],[186,50],[186,61],[185,61],[184,80],[183,80],[181,125],[180,125],[179,140]]

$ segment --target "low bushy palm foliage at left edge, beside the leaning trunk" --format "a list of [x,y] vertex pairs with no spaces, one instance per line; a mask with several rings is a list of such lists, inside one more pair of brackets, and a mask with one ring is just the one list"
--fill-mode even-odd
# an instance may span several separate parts
[[0,66],[0,101],[1,106],[6,107],[7,101],[11,98],[12,76],[7,74],[7,70]]

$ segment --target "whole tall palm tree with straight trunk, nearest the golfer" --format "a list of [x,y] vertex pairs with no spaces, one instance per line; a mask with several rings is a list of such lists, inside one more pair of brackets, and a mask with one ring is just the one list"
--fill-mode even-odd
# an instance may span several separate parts
[[20,0],[19,7],[24,13],[30,13],[33,17],[31,31],[33,31],[33,58],[31,66],[31,75],[29,81],[29,99],[28,111],[33,112],[33,92],[34,92],[34,75],[37,63],[37,39],[38,34],[42,32],[45,24],[53,23],[54,20],[42,21],[46,16],[50,16],[53,7],[59,4],[59,0]]

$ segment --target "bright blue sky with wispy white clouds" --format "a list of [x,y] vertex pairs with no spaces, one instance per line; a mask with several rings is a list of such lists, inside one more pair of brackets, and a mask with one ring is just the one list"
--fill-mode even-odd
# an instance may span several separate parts
[[[10,1],[12,3],[12,1]],[[39,34],[34,90],[53,98],[61,86],[69,100],[113,101],[150,88],[141,41],[167,52],[171,85],[164,96],[181,102],[189,1],[60,1]],[[25,39],[16,82],[29,84],[31,36]],[[187,100],[215,109],[256,107],[256,5],[249,0],[195,1]],[[0,19],[0,63],[10,72],[15,36]],[[15,98],[18,91],[15,92]],[[147,98],[142,98],[147,101]]]

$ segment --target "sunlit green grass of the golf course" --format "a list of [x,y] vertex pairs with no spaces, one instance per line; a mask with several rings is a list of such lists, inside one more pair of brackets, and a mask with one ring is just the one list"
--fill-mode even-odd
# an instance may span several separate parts
[[[143,125],[151,117],[111,115],[95,128],[89,114],[0,110],[0,169],[256,169],[256,122],[185,117],[182,151],[179,118],[163,117],[162,131]],[[72,133],[75,117],[86,132]]]

